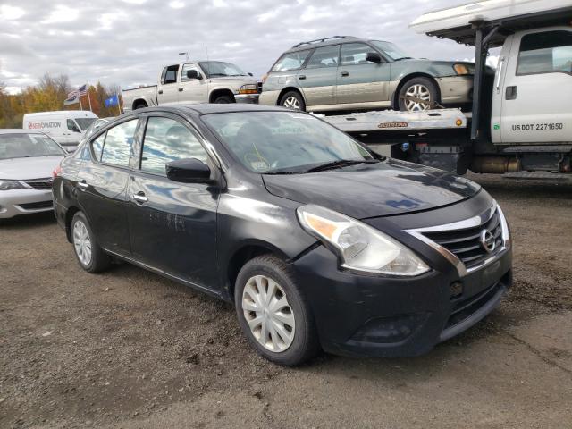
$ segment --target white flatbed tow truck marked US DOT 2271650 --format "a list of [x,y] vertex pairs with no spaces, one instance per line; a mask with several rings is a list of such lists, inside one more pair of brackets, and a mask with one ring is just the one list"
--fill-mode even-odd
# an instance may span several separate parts
[[[410,27],[475,46],[473,114],[379,111],[324,120],[383,155],[459,174],[572,181],[572,3],[488,0],[425,13]],[[492,79],[484,63],[498,46]]]

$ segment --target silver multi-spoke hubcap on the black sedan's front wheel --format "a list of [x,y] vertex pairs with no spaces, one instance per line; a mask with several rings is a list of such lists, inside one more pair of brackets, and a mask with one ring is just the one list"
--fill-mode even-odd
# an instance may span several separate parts
[[273,352],[288,349],[294,340],[294,313],[282,287],[265,275],[248,279],[242,311],[254,338]]

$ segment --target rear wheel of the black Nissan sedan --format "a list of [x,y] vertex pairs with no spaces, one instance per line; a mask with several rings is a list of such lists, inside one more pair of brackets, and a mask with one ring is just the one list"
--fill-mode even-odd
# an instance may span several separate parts
[[99,273],[109,268],[112,258],[97,244],[88,219],[78,212],[71,220],[71,244],[76,259],[88,273]]

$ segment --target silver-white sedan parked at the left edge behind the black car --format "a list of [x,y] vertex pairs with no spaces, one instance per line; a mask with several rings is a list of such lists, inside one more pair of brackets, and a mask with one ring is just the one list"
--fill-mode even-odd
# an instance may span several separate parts
[[41,132],[0,130],[0,218],[53,210],[52,172],[66,155]]

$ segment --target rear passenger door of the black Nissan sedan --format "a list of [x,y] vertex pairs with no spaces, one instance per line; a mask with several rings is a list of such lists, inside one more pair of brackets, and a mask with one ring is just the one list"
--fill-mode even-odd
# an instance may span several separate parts
[[126,119],[91,141],[91,160],[78,173],[78,202],[99,244],[121,255],[130,253],[127,185],[130,154],[139,120]]

